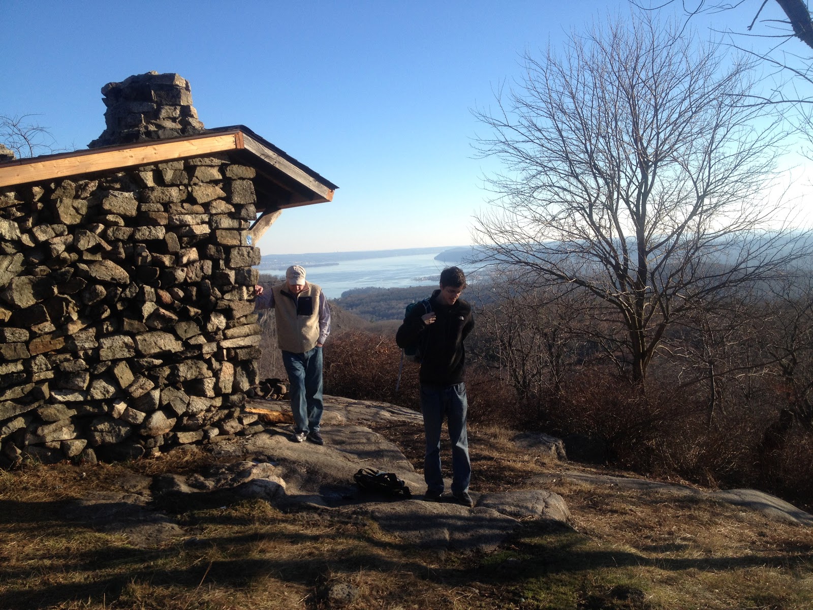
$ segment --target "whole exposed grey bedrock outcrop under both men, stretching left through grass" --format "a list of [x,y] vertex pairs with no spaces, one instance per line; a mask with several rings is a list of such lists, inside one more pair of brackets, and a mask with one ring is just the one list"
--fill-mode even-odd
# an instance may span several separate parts
[[[189,476],[124,475],[116,481],[120,491],[73,501],[66,516],[124,534],[134,546],[154,547],[185,535],[166,512],[156,508],[174,512],[190,505],[219,506],[236,498],[259,498],[285,510],[351,508],[405,543],[443,551],[491,550],[527,519],[568,521],[570,513],[563,499],[545,490],[472,493],[476,500],[473,508],[451,499],[420,499],[425,487],[423,476],[415,472],[400,448],[359,425],[382,420],[422,425],[420,413],[410,409],[326,397],[321,429],[324,445],[293,442],[287,425],[224,439],[207,451],[225,462],[235,457],[240,461],[211,466]],[[186,453],[195,451],[202,448],[177,447],[167,457],[172,459],[176,453],[183,461]],[[395,473],[411,488],[413,499],[360,491],[353,478],[360,468]]]

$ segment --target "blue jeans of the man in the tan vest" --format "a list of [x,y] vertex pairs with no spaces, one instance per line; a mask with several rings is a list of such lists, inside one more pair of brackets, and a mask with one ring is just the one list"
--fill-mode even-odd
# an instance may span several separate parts
[[288,372],[293,423],[297,432],[319,432],[322,421],[322,348],[295,354],[282,351],[282,364]]

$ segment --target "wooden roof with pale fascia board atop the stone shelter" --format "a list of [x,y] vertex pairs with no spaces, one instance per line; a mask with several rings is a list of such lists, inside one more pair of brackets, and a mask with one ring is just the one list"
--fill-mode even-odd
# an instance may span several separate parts
[[254,190],[258,211],[281,210],[333,200],[338,188],[306,165],[286,155],[244,125],[207,129],[195,136],[102,146],[33,159],[0,163],[0,187],[24,185],[227,153],[257,172]]

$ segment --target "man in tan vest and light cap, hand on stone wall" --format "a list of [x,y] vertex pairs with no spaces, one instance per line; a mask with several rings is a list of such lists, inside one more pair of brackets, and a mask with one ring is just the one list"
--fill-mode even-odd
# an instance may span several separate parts
[[263,294],[254,286],[257,309],[273,307],[276,342],[290,382],[293,440],[306,438],[324,444],[319,434],[322,420],[322,346],[330,334],[330,308],[322,289],[305,281],[305,269],[293,265],[285,272],[285,284]]

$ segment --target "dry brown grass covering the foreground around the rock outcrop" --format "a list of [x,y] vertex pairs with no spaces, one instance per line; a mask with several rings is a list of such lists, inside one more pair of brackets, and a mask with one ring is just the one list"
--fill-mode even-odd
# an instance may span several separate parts
[[[380,431],[420,468],[420,426]],[[502,429],[475,425],[470,436],[473,490],[516,489],[561,468],[518,453]],[[0,473],[0,608],[328,608],[324,592],[334,582],[358,588],[348,606],[355,609],[813,605],[811,529],[560,477],[550,477],[550,489],[567,500],[573,528],[528,522],[488,555],[410,547],[351,510],[285,514],[260,500],[179,508],[188,538],[150,549],[63,520],[66,499],[115,489],[128,473],[193,473],[207,461],[216,460]]]

